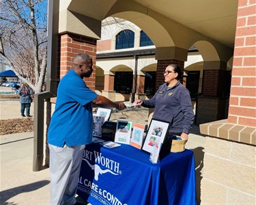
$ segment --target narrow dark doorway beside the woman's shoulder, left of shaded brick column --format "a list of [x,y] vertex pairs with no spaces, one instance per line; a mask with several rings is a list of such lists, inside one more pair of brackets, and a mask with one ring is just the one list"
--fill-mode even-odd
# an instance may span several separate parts
[[186,78],[186,88],[190,91],[191,99],[196,99],[199,88],[200,71],[188,71]]

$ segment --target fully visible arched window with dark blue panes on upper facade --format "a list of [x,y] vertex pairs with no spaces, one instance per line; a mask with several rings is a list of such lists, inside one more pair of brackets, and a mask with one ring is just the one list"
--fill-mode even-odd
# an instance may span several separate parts
[[133,48],[134,47],[134,32],[124,30],[117,34],[115,49]]

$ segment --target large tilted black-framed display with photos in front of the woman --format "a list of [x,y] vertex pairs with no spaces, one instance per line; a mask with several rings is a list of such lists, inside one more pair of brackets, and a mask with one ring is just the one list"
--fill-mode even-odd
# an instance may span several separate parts
[[165,137],[169,131],[169,125],[170,123],[167,121],[152,119],[149,129],[147,129],[142,149],[148,153],[152,153],[154,145],[156,144],[156,139],[160,139],[161,144],[165,141]]

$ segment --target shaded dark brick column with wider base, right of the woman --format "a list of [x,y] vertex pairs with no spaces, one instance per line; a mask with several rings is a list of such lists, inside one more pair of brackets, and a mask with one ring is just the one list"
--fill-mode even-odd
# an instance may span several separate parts
[[227,62],[203,62],[203,90],[197,97],[195,123],[200,125],[221,119],[227,119],[229,101],[230,74]]

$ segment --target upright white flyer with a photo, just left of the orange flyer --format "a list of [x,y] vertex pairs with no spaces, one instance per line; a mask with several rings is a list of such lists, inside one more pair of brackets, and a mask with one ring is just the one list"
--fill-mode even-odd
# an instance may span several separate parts
[[115,129],[115,142],[130,144],[130,135],[132,133],[132,122],[117,121]]

